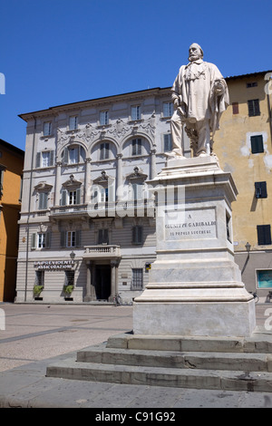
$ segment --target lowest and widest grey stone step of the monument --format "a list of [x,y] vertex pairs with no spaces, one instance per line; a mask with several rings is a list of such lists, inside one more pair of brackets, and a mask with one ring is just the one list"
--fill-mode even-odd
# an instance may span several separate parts
[[272,373],[162,368],[139,365],[81,363],[71,360],[47,367],[47,376],[92,382],[164,387],[272,392]]

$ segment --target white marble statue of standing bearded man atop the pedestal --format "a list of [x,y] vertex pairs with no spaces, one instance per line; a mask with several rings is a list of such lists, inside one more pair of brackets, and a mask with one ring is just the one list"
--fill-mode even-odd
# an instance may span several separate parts
[[213,134],[228,107],[228,86],[213,63],[203,61],[199,44],[189,46],[189,63],[182,65],[171,89],[174,113],[170,120],[172,152],[182,158],[182,127],[187,132],[194,157],[213,153]]

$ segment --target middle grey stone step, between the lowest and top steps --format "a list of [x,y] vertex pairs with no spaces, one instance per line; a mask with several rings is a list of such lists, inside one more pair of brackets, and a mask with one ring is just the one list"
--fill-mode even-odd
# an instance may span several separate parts
[[272,355],[268,353],[207,353],[151,351],[91,346],[77,353],[81,363],[105,363],[162,368],[235,370],[272,372]]

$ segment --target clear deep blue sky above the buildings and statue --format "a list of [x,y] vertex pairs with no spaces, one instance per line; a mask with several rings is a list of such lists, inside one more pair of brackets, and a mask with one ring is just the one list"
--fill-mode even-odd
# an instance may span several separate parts
[[0,0],[0,139],[18,114],[170,87],[189,44],[227,77],[272,69],[271,0]]

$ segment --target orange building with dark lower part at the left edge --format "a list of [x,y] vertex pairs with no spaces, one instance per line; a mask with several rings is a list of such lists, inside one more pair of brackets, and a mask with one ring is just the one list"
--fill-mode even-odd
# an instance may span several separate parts
[[0,140],[0,302],[15,299],[24,151]]

